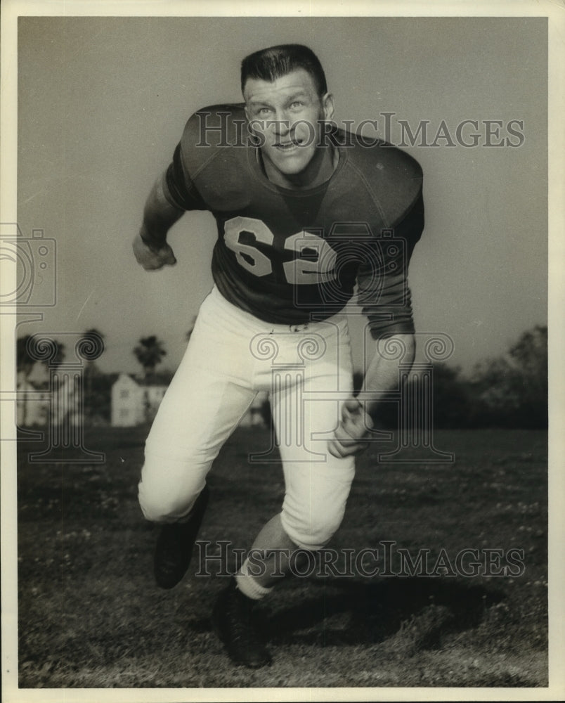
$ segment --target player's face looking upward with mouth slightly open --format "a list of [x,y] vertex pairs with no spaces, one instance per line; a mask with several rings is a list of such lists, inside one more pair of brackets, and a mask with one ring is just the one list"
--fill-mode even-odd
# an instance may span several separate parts
[[333,115],[332,96],[320,97],[312,76],[301,68],[272,83],[249,78],[243,97],[264,158],[287,176],[303,172],[320,142],[319,121]]

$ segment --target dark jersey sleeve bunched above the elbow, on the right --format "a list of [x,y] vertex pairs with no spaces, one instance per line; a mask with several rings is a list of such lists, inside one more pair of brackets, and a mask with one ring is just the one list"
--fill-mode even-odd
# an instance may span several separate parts
[[375,255],[367,257],[359,267],[357,300],[368,317],[374,340],[414,332],[408,264],[423,229],[424,201],[420,188],[410,210],[393,228],[381,233],[375,240]]

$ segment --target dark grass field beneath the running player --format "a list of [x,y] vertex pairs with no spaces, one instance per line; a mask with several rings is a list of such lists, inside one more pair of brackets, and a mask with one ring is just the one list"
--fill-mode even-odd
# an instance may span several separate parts
[[[436,432],[453,464],[377,465],[372,445],[330,546],[389,541],[429,550],[431,565],[443,549],[449,564],[289,579],[261,604],[274,662],[259,671],[231,666],[209,626],[225,577],[197,576],[195,557],[173,591],[152,581],[156,533],[136,497],[145,432],[91,430],[100,465],[30,465],[38,446],[20,443],[21,688],[547,685],[545,432]],[[216,461],[200,535],[212,548],[249,548],[280,509],[280,465],[247,462],[268,440],[240,429]],[[448,575],[464,549],[502,550],[502,564],[524,550],[523,573]]]

